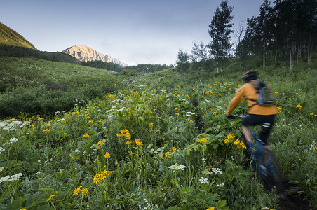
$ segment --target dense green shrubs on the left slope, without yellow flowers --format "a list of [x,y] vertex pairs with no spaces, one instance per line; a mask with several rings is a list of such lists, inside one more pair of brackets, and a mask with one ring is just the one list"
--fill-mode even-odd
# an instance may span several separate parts
[[[49,115],[102,99],[118,90],[121,79],[110,71],[39,59],[0,57],[0,116]],[[81,76],[78,75],[81,73]]]

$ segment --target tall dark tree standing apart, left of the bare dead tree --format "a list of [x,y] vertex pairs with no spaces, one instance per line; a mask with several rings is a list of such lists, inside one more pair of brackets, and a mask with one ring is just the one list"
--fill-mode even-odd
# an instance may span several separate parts
[[228,6],[228,1],[222,1],[220,8],[215,10],[213,20],[209,25],[209,35],[212,38],[210,42],[210,54],[215,57],[215,60],[222,68],[227,57],[229,57],[229,50],[231,48],[231,37],[230,34],[233,32],[231,27],[233,24],[231,20],[234,16],[231,15],[234,8]]

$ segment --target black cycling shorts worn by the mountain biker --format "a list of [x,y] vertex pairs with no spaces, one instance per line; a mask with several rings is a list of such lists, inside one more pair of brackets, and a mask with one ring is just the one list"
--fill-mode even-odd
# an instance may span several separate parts
[[259,139],[261,139],[263,145],[267,145],[267,139],[271,132],[271,129],[275,122],[275,115],[262,116],[249,114],[245,116],[242,121],[242,125],[252,126],[261,125],[261,130],[259,132]]

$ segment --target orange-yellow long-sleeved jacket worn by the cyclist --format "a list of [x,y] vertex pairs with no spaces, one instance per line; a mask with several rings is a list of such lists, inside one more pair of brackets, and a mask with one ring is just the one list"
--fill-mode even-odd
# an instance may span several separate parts
[[[252,82],[245,83],[239,88],[238,92],[236,92],[236,94],[234,95],[234,98],[229,103],[229,106],[226,112],[227,116],[231,115],[232,111],[234,111],[234,109],[236,109],[236,107],[241,103],[243,97],[247,99],[254,99],[254,100],[257,99],[257,90],[252,85]],[[259,105],[252,106],[253,104],[257,104],[257,102],[247,100],[249,114],[269,116],[269,115],[274,115],[278,113],[278,110],[276,109],[275,105],[274,106],[259,106]]]

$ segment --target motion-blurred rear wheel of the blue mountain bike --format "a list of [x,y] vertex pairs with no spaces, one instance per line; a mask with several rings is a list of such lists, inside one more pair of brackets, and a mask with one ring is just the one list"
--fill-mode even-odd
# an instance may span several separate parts
[[282,170],[274,153],[268,149],[259,151],[257,160],[257,175],[266,190],[276,189],[277,193],[284,191]]

